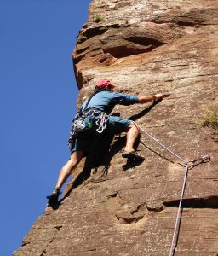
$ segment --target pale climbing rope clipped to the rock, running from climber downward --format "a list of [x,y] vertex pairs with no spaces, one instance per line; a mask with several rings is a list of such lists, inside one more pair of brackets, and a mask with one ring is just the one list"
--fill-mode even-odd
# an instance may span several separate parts
[[186,188],[186,179],[187,179],[188,170],[191,167],[198,165],[199,163],[209,161],[210,160],[210,155],[209,154],[204,155],[203,157],[199,158],[198,160],[190,160],[190,161],[183,160],[178,154],[175,154],[172,150],[170,150],[169,148],[164,146],[163,143],[160,143],[156,137],[153,137],[149,132],[145,131],[140,125],[137,125],[135,123],[135,126],[138,127],[141,131],[144,131],[144,133],[146,133],[146,135],[148,137],[152,138],[152,140],[154,140],[161,147],[163,147],[164,149],[169,151],[169,153],[175,155],[175,157],[180,159],[186,165],[185,176],[183,178],[182,189],[181,189],[180,203],[179,203],[179,207],[178,207],[178,211],[177,211],[177,216],[176,216],[176,219],[175,219],[175,229],[174,229],[174,234],[173,234],[173,238],[172,238],[172,242],[171,242],[171,247],[170,247],[170,251],[169,251],[169,256],[173,256],[174,253],[175,253],[175,247],[176,247],[175,237],[176,237],[176,235],[178,237],[178,224],[179,224],[179,219],[181,218],[181,203],[182,203],[183,195],[184,195],[185,188]]

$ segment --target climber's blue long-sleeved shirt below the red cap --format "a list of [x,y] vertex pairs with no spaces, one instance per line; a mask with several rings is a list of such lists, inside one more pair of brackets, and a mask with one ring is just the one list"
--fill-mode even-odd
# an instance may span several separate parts
[[[83,102],[83,105],[81,107],[82,110],[87,101],[88,100]],[[138,96],[124,95],[122,93],[103,90],[98,92],[97,94],[95,94],[95,96],[91,98],[87,108],[98,108],[100,109],[100,111],[103,111],[106,114],[109,114],[112,112],[112,109],[117,104],[129,106],[138,102],[139,102]]]

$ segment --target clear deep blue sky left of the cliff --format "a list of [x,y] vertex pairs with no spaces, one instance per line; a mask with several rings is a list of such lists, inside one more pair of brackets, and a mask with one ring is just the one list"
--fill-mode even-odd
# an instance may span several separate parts
[[0,255],[12,255],[69,157],[72,50],[90,0],[0,0]]

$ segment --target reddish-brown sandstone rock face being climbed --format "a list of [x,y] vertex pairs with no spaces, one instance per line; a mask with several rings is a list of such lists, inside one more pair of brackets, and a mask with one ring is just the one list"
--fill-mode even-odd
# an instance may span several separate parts
[[[189,169],[175,255],[218,255],[217,135],[198,125],[217,109],[217,41],[217,0],[94,0],[73,52],[78,103],[100,78],[126,94],[169,92],[162,102],[115,112],[182,159],[210,153]],[[169,255],[184,163],[143,132],[146,160],[126,162],[124,141],[122,134],[95,144],[60,207],[46,209],[15,256]]]

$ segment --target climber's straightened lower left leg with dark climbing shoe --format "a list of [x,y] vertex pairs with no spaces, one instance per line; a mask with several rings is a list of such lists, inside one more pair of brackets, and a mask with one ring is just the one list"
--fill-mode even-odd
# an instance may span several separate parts
[[49,199],[49,205],[53,205],[58,201],[62,185],[66,182],[67,177],[75,170],[82,158],[83,151],[74,151],[70,160],[62,167],[54,191],[47,197]]

